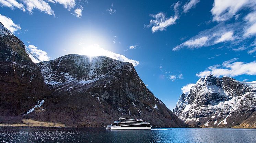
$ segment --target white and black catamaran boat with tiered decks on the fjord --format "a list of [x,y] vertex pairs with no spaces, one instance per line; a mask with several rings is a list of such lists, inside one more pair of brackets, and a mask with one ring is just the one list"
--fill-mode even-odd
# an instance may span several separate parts
[[151,130],[151,126],[142,119],[119,118],[113,125],[107,125],[106,130]]

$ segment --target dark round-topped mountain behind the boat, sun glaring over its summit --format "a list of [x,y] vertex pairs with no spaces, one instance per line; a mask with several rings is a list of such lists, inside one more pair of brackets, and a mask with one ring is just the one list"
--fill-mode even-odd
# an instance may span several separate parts
[[106,126],[119,117],[157,127],[187,127],[144,85],[131,63],[66,55],[37,64],[53,91],[46,111],[28,117],[68,126]]

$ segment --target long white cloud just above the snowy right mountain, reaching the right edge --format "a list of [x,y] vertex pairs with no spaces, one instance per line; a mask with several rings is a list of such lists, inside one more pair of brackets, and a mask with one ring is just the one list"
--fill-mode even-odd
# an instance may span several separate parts
[[228,61],[224,61],[222,65],[214,65],[208,67],[207,70],[196,74],[198,77],[205,77],[209,74],[213,76],[238,76],[238,75],[256,75],[256,61],[249,63],[236,61],[238,58],[233,58]]

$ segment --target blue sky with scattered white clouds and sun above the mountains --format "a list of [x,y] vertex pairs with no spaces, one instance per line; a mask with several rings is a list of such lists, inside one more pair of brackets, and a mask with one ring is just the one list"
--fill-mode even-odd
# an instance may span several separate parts
[[255,1],[2,0],[0,5],[0,21],[39,59],[87,54],[132,62],[171,110],[181,88],[199,77],[256,80]]

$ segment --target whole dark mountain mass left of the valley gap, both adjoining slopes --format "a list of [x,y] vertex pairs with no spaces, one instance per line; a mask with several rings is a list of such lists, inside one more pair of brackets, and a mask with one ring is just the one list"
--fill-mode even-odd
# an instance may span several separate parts
[[129,62],[66,55],[35,64],[39,59],[2,24],[0,48],[1,123],[30,118],[101,127],[126,117],[155,127],[188,127],[149,91]]

